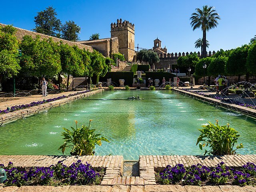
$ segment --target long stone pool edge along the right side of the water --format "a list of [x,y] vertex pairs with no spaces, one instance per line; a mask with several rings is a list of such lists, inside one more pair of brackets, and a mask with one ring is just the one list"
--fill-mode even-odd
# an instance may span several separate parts
[[249,116],[252,116],[252,117],[256,118],[256,110],[254,110],[254,109],[244,107],[244,106],[240,106],[240,105],[236,105],[236,104],[231,104],[231,103],[221,101],[221,100],[218,100],[218,99],[198,95],[198,94],[188,92],[188,91],[184,91],[184,90],[180,90],[180,89],[177,89],[177,88],[172,88],[172,90],[175,91],[175,92],[178,92],[180,94],[195,97],[197,99],[200,99],[202,101],[206,101],[208,103],[219,104],[220,106],[222,106],[224,108],[231,108],[232,110],[236,110],[236,111],[239,111],[243,114],[246,114],[246,115],[249,115]]

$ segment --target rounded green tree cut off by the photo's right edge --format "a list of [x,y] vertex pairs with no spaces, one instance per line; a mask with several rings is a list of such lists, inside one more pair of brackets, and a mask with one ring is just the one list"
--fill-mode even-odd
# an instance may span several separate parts
[[246,67],[251,74],[256,74],[256,41],[254,41],[248,50]]

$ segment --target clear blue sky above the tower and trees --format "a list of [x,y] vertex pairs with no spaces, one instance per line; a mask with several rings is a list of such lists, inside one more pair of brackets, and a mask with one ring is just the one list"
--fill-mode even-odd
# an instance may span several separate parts
[[1,2],[0,23],[31,30],[37,12],[53,6],[62,23],[73,20],[81,27],[81,40],[92,33],[110,37],[111,22],[122,18],[135,25],[135,46],[152,48],[158,36],[170,53],[198,52],[194,42],[202,31],[193,31],[189,18],[203,5],[214,6],[221,17],[217,28],[206,34],[208,51],[236,48],[256,35],[256,0],[9,0]]

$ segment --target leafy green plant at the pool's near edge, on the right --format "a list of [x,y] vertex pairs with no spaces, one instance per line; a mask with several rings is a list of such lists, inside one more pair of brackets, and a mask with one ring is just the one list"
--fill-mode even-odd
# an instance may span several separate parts
[[[203,125],[203,129],[198,129],[201,134],[197,139],[196,145],[199,144],[199,148],[202,150],[204,146],[210,147],[210,150],[205,150],[204,155],[209,153],[213,155],[232,155],[236,153],[237,149],[243,148],[242,143],[236,146],[238,131],[227,126],[220,126],[216,120],[216,126],[209,122],[208,125]],[[203,142],[203,143],[201,143]]]

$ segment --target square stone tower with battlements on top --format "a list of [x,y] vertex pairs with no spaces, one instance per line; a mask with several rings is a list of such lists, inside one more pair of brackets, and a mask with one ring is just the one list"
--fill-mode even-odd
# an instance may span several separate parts
[[134,24],[129,21],[118,19],[116,23],[111,23],[111,38],[118,37],[118,51],[124,54],[127,61],[134,58]]

